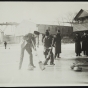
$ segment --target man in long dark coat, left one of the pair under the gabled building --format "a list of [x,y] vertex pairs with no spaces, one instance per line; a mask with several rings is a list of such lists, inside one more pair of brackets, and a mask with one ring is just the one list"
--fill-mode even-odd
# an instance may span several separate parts
[[80,56],[80,53],[81,53],[81,36],[79,35],[79,33],[76,33],[74,41],[75,41],[76,56]]

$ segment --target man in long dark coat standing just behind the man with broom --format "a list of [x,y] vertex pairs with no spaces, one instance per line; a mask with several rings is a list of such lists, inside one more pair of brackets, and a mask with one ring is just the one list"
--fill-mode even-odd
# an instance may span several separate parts
[[60,58],[60,53],[61,53],[61,36],[60,36],[60,31],[57,30],[56,37],[54,38],[54,43],[55,45],[55,58],[58,56]]

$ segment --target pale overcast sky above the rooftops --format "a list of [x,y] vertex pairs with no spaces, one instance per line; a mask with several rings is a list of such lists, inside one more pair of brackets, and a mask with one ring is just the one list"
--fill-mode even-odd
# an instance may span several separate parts
[[56,21],[68,13],[88,10],[88,2],[0,2],[0,23]]

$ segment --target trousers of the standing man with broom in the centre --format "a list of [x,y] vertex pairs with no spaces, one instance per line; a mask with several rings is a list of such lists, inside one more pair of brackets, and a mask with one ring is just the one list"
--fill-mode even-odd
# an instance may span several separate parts
[[47,64],[48,60],[50,60],[50,64],[54,63],[52,49],[46,49],[45,50],[45,57],[46,57],[46,60],[45,60],[44,64]]

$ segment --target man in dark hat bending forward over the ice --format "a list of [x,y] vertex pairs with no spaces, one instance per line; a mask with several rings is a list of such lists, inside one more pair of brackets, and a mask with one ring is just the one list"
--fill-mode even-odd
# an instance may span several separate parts
[[28,33],[25,36],[23,36],[23,41],[21,44],[21,55],[20,55],[20,63],[19,63],[19,69],[22,67],[23,57],[24,57],[24,51],[26,50],[29,54],[29,66],[34,66],[33,63],[33,54],[32,54],[32,48],[36,50],[35,46],[35,37],[39,35],[39,32],[34,31],[34,34]]

